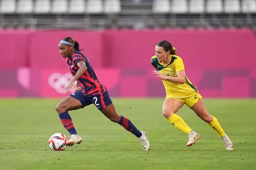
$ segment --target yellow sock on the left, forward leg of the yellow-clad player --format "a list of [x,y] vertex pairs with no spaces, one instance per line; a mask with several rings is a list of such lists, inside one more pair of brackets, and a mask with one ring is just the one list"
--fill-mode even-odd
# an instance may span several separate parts
[[192,131],[192,129],[185,123],[185,121],[176,114],[173,114],[171,117],[169,117],[168,121],[170,121],[174,127],[176,127],[184,134],[188,134]]

